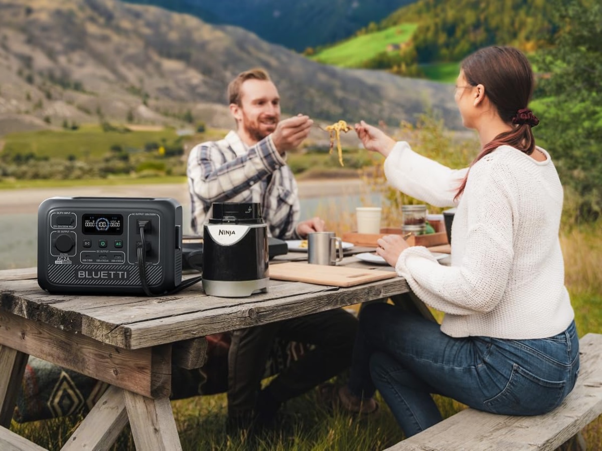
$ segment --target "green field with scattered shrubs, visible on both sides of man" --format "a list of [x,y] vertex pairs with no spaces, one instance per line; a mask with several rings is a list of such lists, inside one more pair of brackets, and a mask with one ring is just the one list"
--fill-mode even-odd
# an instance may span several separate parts
[[[188,150],[224,134],[224,130],[208,129],[178,137],[169,128],[116,132],[104,131],[98,125],[12,133],[3,137],[0,190],[76,186],[82,180],[87,185],[180,182],[185,180]],[[149,144],[154,144],[154,149],[144,152]],[[179,153],[161,155],[158,146],[172,147]],[[371,164],[368,152],[356,147],[343,146],[341,167],[337,152],[329,155],[327,141],[309,142],[308,146],[288,153],[288,165],[300,177],[355,176],[356,170]],[[115,147],[117,152],[112,149]]]

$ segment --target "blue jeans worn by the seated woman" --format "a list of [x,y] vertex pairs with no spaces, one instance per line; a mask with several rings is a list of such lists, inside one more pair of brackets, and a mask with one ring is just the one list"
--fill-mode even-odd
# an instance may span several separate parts
[[406,437],[441,421],[430,393],[506,415],[557,407],[579,373],[574,321],[545,339],[453,338],[439,325],[391,304],[370,304],[359,319],[349,389],[378,389]]

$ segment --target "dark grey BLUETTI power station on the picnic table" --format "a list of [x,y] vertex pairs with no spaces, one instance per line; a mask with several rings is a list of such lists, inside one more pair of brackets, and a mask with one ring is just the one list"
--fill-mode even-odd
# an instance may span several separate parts
[[37,279],[51,293],[161,295],[182,283],[172,198],[52,197],[38,209]]

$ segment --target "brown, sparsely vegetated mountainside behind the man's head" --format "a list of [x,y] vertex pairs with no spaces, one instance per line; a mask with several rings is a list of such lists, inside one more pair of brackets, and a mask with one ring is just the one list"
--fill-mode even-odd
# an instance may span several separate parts
[[399,124],[432,106],[459,127],[448,86],[323,66],[241,28],[114,0],[0,0],[0,134],[101,119],[229,127],[226,85],[257,66],[289,114]]

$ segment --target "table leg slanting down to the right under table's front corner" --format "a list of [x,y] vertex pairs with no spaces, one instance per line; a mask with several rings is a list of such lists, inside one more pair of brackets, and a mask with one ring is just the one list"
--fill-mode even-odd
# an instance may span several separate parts
[[151,399],[123,390],[136,449],[178,451],[182,449],[169,397]]

